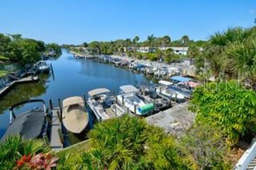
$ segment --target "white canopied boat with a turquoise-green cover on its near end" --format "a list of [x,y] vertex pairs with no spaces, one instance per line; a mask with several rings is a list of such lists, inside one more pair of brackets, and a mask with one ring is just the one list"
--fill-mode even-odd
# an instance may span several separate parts
[[139,90],[132,85],[120,87],[121,93],[117,96],[118,103],[137,115],[146,115],[154,109],[154,104],[145,104],[138,96]]

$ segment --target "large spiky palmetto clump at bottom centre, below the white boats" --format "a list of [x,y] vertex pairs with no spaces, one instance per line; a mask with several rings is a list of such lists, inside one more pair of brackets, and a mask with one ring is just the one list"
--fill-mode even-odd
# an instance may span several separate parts
[[191,169],[177,141],[162,129],[124,116],[97,124],[91,150],[82,155],[87,169]]

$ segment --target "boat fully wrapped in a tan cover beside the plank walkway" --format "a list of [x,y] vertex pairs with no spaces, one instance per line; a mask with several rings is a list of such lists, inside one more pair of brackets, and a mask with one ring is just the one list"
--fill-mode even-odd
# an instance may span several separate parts
[[89,123],[84,99],[79,96],[69,97],[62,101],[62,122],[72,133],[81,133]]

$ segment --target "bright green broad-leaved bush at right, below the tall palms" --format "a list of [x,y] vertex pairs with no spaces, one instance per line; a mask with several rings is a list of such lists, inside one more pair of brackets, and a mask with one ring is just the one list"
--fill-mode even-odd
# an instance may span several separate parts
[[255,132],[256,93],[237,81],[207,83],[198,87],[191,99],[191,111],[198,123],[221,127],[229,145],[239,137]]

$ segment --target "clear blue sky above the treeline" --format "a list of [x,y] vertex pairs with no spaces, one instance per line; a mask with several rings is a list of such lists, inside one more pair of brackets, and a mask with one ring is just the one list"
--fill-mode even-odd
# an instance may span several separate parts
[[46,43],[169,35],[207,39],[228,27],[251,27],[255,0],[1,0],[0,32]]

